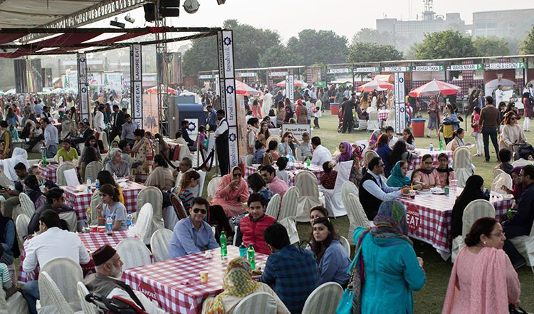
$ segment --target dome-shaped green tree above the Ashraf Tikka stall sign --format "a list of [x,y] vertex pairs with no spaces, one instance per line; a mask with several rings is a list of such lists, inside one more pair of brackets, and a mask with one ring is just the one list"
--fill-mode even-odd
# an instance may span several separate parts
[[416,49],[418,59],[462,58],[476,56],[470,36],[459,31],[436,31],[424,36]]

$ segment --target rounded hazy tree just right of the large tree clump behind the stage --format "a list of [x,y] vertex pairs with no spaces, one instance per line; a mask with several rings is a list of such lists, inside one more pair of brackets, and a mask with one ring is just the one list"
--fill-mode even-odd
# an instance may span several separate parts
[[343,63],[348,53],[345,36],[314,29],[305,29],[297,37],[289,38],[287,48],[293,56],[300,56],[295,61],[300,61],[301,66]]

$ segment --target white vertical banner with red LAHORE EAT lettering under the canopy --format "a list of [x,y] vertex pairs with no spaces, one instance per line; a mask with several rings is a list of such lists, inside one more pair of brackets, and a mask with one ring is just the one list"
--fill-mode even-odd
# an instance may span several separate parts
[[137,128],[143,127],[143,87],[142,87],[142,48],[138,43],[130,46],[130,86],[132,122]]

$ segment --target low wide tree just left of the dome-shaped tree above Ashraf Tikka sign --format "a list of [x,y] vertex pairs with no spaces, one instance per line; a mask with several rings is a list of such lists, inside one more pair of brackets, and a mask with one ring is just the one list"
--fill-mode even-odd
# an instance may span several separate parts
[[353,43],[349,47],[347,62],[378,62],[402,60],[402,52],[393,46],[378,43]]

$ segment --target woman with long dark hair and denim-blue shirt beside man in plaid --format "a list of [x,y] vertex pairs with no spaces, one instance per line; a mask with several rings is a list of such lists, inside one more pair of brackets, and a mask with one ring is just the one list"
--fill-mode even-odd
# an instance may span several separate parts
[[339,239],[328,217],[313,221],[310,245],[319,263],[319,286],[330,281],[347,286],[350,257]]

